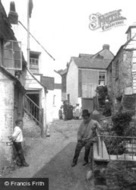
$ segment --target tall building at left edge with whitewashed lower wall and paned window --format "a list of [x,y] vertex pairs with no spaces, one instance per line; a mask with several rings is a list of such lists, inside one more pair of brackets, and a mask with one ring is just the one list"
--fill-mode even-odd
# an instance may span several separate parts
[[25,61],[0,1],[0,168],[12,161],[11,136],[23,116]]

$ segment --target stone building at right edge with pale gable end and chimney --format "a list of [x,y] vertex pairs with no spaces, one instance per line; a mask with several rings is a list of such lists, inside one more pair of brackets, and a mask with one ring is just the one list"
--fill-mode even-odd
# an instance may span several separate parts
[[126,32],[127,42],[118,50],[107,68],[107,85],[114,111],[119,102],[125,109],[134,110],[136,93],[136,26]]

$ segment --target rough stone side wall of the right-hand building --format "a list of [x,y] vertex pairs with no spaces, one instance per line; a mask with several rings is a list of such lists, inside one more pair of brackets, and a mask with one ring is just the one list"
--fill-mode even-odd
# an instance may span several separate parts
[[[108,87],[115,111],[116,98],[125,94],[127,89],[132,89],[132,51],[122,49],[112,62],[108,70]],[[112,72],[110,73],[110,69]],[[129,92],[128,92],[129,93]]]

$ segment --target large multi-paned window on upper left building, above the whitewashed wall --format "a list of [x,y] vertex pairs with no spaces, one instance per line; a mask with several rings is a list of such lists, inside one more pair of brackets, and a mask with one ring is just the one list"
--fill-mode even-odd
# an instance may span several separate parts
[[4,44],[3,67],[22,70],[21,42],[10,40]]

